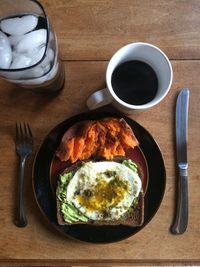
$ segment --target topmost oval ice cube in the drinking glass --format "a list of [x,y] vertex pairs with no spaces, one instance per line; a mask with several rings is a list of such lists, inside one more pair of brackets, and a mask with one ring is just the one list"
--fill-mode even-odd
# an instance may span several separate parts
[[22,17],[3,19],[0,23],[2,31],[12,35],[22,35],[35,29],[38,17],[25,15]]

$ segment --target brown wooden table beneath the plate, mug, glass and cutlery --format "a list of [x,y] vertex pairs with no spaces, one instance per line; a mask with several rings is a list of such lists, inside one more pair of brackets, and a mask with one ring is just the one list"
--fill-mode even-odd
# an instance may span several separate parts
[[[200,264],[200,1],[41,0],[58,36],[65,64],[64,90],[55,96],[16,89],[0,81],[0,265],[131,266]],[[167,97],[148,112],[130,116],[158,142],[167,171],[164,199],[152,221],[124,241],[94,245],[61,236],[34,199],[31,167],[48,132],[61,121],[87,111],[86,99],[105,86],[111,55],[136,41],[160,47],[170,58],[174,80]],[[190,88],[189,225],[183,235],[169,231],[175,205],[174,112],[178,91]],[[34,153],[26,165],[28,226],[13,224],[18,158],[15,122],[31,124]]]

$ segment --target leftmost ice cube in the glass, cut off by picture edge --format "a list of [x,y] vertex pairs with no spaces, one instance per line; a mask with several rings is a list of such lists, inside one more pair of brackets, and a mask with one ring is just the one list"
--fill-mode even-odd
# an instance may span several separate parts
[[12,61],[12,50],[8,37],[0,31],[0,68],[8,69]]

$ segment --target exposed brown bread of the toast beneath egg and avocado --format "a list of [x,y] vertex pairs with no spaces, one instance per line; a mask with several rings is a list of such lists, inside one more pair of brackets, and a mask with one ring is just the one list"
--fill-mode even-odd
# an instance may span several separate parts
[[[117,157],[115,158],[115,162],[121,162],[125,158]],[[68,167],[63,173],[68,173],[70,171],[76,171],[76,169],[80,168],[82,162],[77,162],[70,167]],[[59,182],[58,182],[59,183]],[[104,220],[104,221],[92,221],[89,220],[88,222],[77,221],[73,223],[65,222],[61,213],[60,208],[60,201],[57,199],[57,221],[59,225],[72,225],[72,224],[91,224],[91,225],[128,225],[128,226],[141,226],[144,221],[144,195],[141,191],[138,199],[137,204],[132,205],[129,210],[123,214],[123,216],[118,220]]]

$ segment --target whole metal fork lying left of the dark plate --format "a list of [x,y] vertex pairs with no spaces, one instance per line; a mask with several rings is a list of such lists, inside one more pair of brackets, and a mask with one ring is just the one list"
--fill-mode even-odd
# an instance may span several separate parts
[[16,123],[16,152],[20,158],[18,202],[15,224],[18,227],[27,225],[27,218],[24,210],[23,185],[24,185],[24,168],[27,157],[33,150],[33,136],[28,123]]

